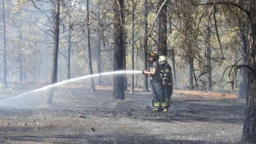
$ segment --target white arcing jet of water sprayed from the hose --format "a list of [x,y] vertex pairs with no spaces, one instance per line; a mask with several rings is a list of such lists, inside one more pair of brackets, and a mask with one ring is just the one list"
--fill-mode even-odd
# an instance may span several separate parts
[[138,71],[138,70],[127,70],[127,71],[121,70],[121,71],[112,71],[112,72],[106,72],[106,73],[100,73],[100,74],[85,75],[85,76],[78,77],[78,78],[64,80],[62,82],[51,84],[51,85],[48,85],[48,86],[45,86],[45,87],[42,87],[42,88],[38,88],[38,89],[33,90],[33,91],[29,91],[29,92],[22,93],[20,95],[14,96],[14,97],[10,97],[8,99],[1,100],[0,101],[0,106],[4,106],[6,102],[10,102],[11,100],[15,100],[15,99],[21,98],[21,97],[23,97],[25,95],[28,95],[30,93],[44,91],[44,90],[47,90],[48,88],[53,88],[53,87],[61,86],[63,84],[67,84],[67,83],[71,83],[71,82],[76,82],[78,80],[83,80],[83,79],[88,79],[88,78],[93,78],[93,77],[99,77],[100,75],[141,74],[141,73],[142,73],[142,71]]

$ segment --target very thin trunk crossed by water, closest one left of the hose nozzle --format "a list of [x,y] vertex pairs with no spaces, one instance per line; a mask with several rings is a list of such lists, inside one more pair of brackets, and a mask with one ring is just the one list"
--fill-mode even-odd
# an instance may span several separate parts
[[[132,0],[132,70],[134,70],[134,5]],[[134,93],[134,74],[132,74],[131,91],[130,94]]]

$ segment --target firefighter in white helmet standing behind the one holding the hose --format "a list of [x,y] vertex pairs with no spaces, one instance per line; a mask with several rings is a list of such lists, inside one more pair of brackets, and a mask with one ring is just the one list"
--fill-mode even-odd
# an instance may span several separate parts
[[163,74],[162,79],[163,79],[163,86],[165,87],[166,101],[168,104],[168,108],[170,108],[172,86],[174,85],[173,79],[172,79],[171,66],[168,64],[166,56],[160,56],[158,61],[159,61],[161,73]]

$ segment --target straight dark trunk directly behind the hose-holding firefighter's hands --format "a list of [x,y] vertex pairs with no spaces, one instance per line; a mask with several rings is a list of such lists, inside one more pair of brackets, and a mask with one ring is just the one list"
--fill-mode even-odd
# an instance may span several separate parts
[[[144,35],[148,34],[148,0],[144,0]],[[144,70],[148,68],[148,40],[144,37]],[[144,75],[143,91],[149,91],[148,77]]]

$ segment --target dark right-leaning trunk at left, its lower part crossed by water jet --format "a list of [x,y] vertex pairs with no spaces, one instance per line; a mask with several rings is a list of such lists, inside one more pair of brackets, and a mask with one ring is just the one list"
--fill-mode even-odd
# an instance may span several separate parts
[[[52,25],[53,25],[53,44],[52,44],[52,72],[50,78],[50,85],[57,82],[57,68],[58,68],[58,51],[59,51],[59,25],[60,25],[60,0],[53,0],[52,2]],[[54,89],[47,91],[44,103],[51,104]]]

